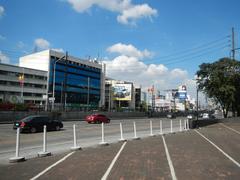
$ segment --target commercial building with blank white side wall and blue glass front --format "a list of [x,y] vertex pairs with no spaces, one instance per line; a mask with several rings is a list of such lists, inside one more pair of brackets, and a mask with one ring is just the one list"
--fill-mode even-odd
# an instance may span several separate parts
[[47,72],[45,97],[49,108],[98,108],[105,104],[105,65],[98,61],[45,50],[21,57],[19,65]]

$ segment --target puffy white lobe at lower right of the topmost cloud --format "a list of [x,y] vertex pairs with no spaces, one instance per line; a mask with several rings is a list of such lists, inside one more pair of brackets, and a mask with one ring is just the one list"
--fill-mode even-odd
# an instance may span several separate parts
[[157,15],[157,10],[149,7],[148,4],[136,5],[126,9],[117,17],[118,22],[122,24],[133,24],[137,19],[150,18]]

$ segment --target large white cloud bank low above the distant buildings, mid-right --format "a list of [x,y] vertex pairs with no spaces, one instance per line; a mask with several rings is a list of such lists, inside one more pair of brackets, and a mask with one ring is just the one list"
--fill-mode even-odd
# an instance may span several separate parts
[[134,82],[142,85],[145,90],[153,84],[160,90],[177,88],[188,79],[188,73],[185,70],[169,70],[163,64],[147,65],[136,57],[122,55],[104,63],[106,63],[108,77]]

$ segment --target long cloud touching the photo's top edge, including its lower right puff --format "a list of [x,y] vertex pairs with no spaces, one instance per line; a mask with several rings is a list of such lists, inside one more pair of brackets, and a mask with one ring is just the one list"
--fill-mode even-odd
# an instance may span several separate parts
[[67,0],[77,12],[85,12],[92,6],[99,6],[103,9],[117,12],[117,20],[122,24],[136,24],[140,18],[151,18],[157,15],[157,10],[148,4],[134,5],[131,0]]

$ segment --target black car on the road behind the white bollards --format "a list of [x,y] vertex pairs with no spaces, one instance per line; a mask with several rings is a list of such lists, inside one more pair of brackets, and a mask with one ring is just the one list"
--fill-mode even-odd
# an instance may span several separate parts
[[13,129],[20,128],[21,132],[35,133],[37,131],[43,131],[43,126],[47,126],[47,130],[59,131],[63,128],[63,124],[59,120],[51,120],[48,116],[35,115],[27,116],[20,121],[13,123]]

